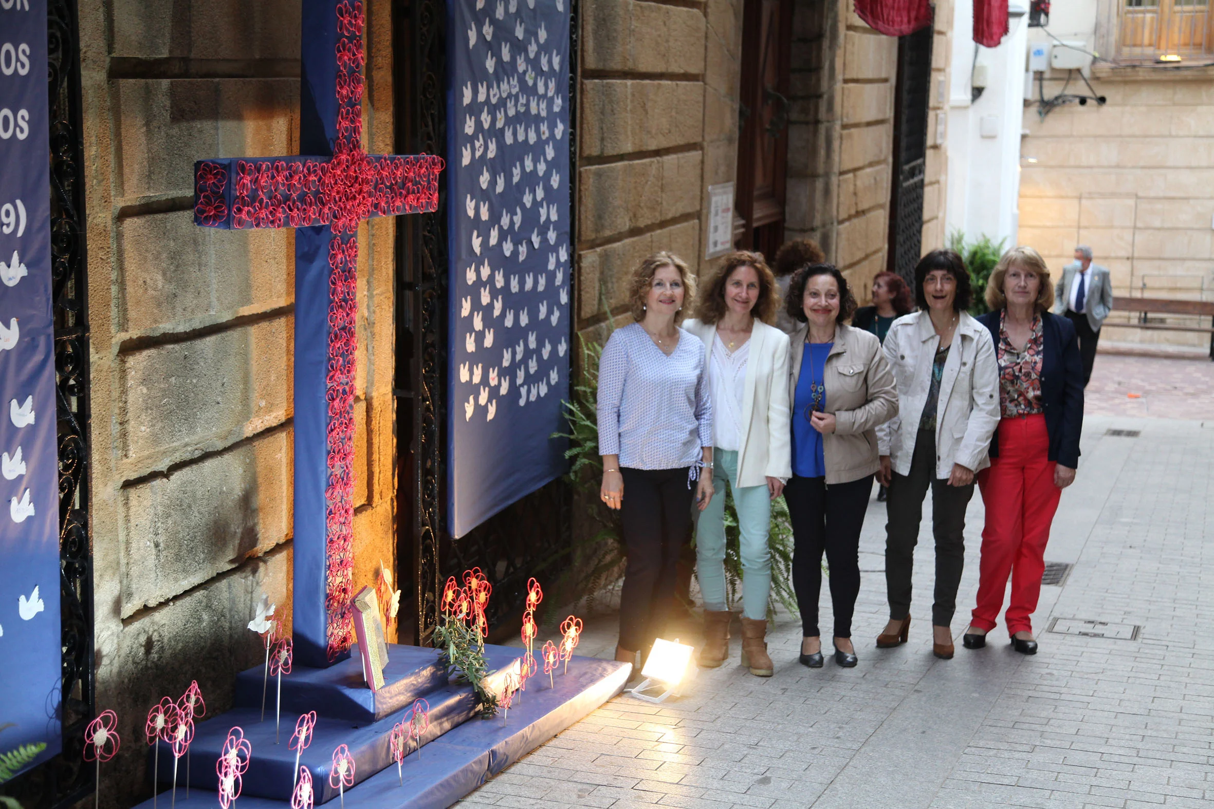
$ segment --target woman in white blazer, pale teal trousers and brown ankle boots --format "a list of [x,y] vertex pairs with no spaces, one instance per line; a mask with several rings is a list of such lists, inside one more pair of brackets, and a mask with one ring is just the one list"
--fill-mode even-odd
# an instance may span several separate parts
[[[713,401],[713,485],[728,484],[742,537],[742,665],[771,677],[764,637],[771,589],[767,532],[771,501],[793,474],[788,421],[788,337],[768,325],[778,290],[758,252],[734,252],[700,292],[697,319],[682,327],[704,343]],[[725,497],[698,514],[696,564],[704,597],[704,646],[699,665],[728,659],[730,617],[725,594]]]

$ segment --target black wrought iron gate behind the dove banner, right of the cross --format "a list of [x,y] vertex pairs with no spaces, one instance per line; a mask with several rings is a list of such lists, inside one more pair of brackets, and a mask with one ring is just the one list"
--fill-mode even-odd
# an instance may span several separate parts
[[[577,199],[578,2],[571,2],[569,164]],[[396,150],[443,154],[446,16],[442,0],[397,0],[392,8]],[[448,161],[448,166],[452,166]],[[571,536],[569,492],[554,480],[466,536],[444,531],[447,469],[447,194],[433,213],[397,220],[396,435],[397,581],[401,642],[429,643],[448,575],[478,566],[494,583],[490,632],[521,614],[527,579],[560,563]],[[571,232],[577,244],[577,205]],[[575,278],[572,279],[575,284]],[[571,296],[577,300],[575,291]],[[572,318],[571,318],[572,321]],[[572,323],[571,323],[572,327]]]

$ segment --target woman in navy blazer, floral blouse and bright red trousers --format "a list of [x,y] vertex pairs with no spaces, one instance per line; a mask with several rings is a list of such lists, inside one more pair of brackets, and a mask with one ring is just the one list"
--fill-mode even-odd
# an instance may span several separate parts
[[1050,270],[1032,247],[1004,253],[980,317],[999,363],[999,428],[991,466],[978,473],[986,506],[978,596],[966,649],[986,645],[1011,577],[1004,616],[1016,651],[1037,654],[1031,616],[1045,570],[1045,543],[1062,490],[1074,482],[1083,428],[1083,360],[1074,325],[1050,313]]

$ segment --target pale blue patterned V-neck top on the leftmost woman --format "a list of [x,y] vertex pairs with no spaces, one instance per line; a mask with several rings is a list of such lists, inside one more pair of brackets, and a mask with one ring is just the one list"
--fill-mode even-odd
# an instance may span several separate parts
[[641,324],[612,332],[599,359],[599,454],[632,469],[697,466],[713,445],[704,343],[679,330],[666,357]]

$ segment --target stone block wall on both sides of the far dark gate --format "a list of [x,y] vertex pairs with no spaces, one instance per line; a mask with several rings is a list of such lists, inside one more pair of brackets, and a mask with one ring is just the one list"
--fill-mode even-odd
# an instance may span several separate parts
[[[924,183],[924,252],[943,244],[944,160],[937,137],[951,4],[936,4]],[[785,238],[810,238],[867,298],[889,253],[898,44],[847,0],[798,2],[793,19]]]

